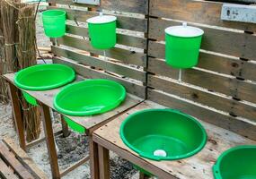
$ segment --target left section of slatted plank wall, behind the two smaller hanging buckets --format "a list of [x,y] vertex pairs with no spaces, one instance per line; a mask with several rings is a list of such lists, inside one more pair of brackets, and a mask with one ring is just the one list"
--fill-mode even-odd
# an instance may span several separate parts
[[[122,83],[129,93],[146,98],[147,0],[102,0],[100,6],[75,4],[72,0],[51,0],[49,9],[67,14],[66,35],[52,46],[54,63],[67,64],[85,78],[105,78]],[[106,50],[94,49],[86,20],[99,15],[118,17],[118,44]]]

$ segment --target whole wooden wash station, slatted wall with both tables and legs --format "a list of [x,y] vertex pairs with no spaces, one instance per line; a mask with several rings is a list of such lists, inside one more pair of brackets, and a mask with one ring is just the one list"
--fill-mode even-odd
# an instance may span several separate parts
[[[84,126],[89,135],[92,178],[110,177],[109,150],[160,178],[213,178],[211,167],[225,149],[240,144],[255,144],[255,141],[252,141],[256,140],[256,36],[253,34],[256,31],[255,24],[221,21],[219,17],[223,4],[214,1],[128,0],[120,4],[117,0],[102,0],[101,5],[97,7],[99,11],[137,14],[114,14],[118,18],[117,28],[122,31],[131,30],[133,33],[117,33],[117,44],[120,46],[106,51],[106,56],[110,59],[106,61],[102,58],[102,50],[96,50],[91,46],[87,27],[79,25],[83,24],[80,22],[86,22],[88,18],[99,13],[90,8],[82,10],[82,7],[89,6],[75,4],[72,0],[50,0],[49,3],[64,4],[62,9],[66,11],[67,19],[76,23],[66,24],[66,35],[57,39],[59,46],[51,47],[55,55],[53,62],[69,65],[85,78],[119,81],[130,94],[140,97],[128,95],[122,106],[103,115],[67,116],[76,124]],[[79,8],[70,8],[71,5]],[[60,7],[49,6],[49,9],[56,8]],[[163,41],[164,29],[181,25],[181,21],[199,26],[205,31],[205,35],[198,68],[182,71],[180,82],[179,72],[164,62]],[[145,36],[135,36],[137,32],[144,33]],[[139,68],[131,67],[130,64]],[[5,75],[5,78],[10,83],[20,145],[25,149],[28,145],[24,140],[21,111],[16,95],[18,90],[13,85],[13,74]],[[58,90],[26,91],[37,98],[43,108],[44,128],[47,138],[49,137],[47,143],[52,175],[56,178],[65,175],[88,159],[85,158],[75,166],[70,166],[62,174],[58,171],[49,117],[49,108],[53,108],[52,99]],[[142,101],[141,98],[179,109],[203,120],[204,122],[200,122],[208,134],[206,147],[191,158],[161,162],[140,158],[137,153],[128,149],[119,138],[119,126],[124,118],[138,110],[163,107],[150,101],[137,106]],[[130,109],[131,107],[135,108]],[[123,114],[128,109],[128,113]],[[120,114],[123,115],[117,118]],[[108,122],[110,124],[107,124]],[[99,127],[101,129],[94,132]],[[65,123],[63,129],[66,129]]]

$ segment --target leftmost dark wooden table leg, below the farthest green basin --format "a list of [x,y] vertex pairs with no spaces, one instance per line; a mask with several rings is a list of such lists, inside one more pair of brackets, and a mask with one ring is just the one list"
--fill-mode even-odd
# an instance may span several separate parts
[[26,150],[25,132],[22,122],[22,107],[18,97],[19,90],[12,83],[9,83],[9,93],[11,95],[14,122],[20,141],[20,146],[23,150]]

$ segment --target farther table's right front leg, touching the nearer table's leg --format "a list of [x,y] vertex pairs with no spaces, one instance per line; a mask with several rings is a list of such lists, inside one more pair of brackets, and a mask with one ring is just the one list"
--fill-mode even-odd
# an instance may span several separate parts
[[89,135],[89,149],[91,178],[99,179],[98,144],[93,141],[92,134]]

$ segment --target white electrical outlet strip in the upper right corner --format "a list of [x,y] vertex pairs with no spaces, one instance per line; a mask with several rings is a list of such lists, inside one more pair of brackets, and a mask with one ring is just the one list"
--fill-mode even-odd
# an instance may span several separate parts
[[221,19],[224,21],[242,21],[256,23],[256,6],[241,4],[223,4]]

